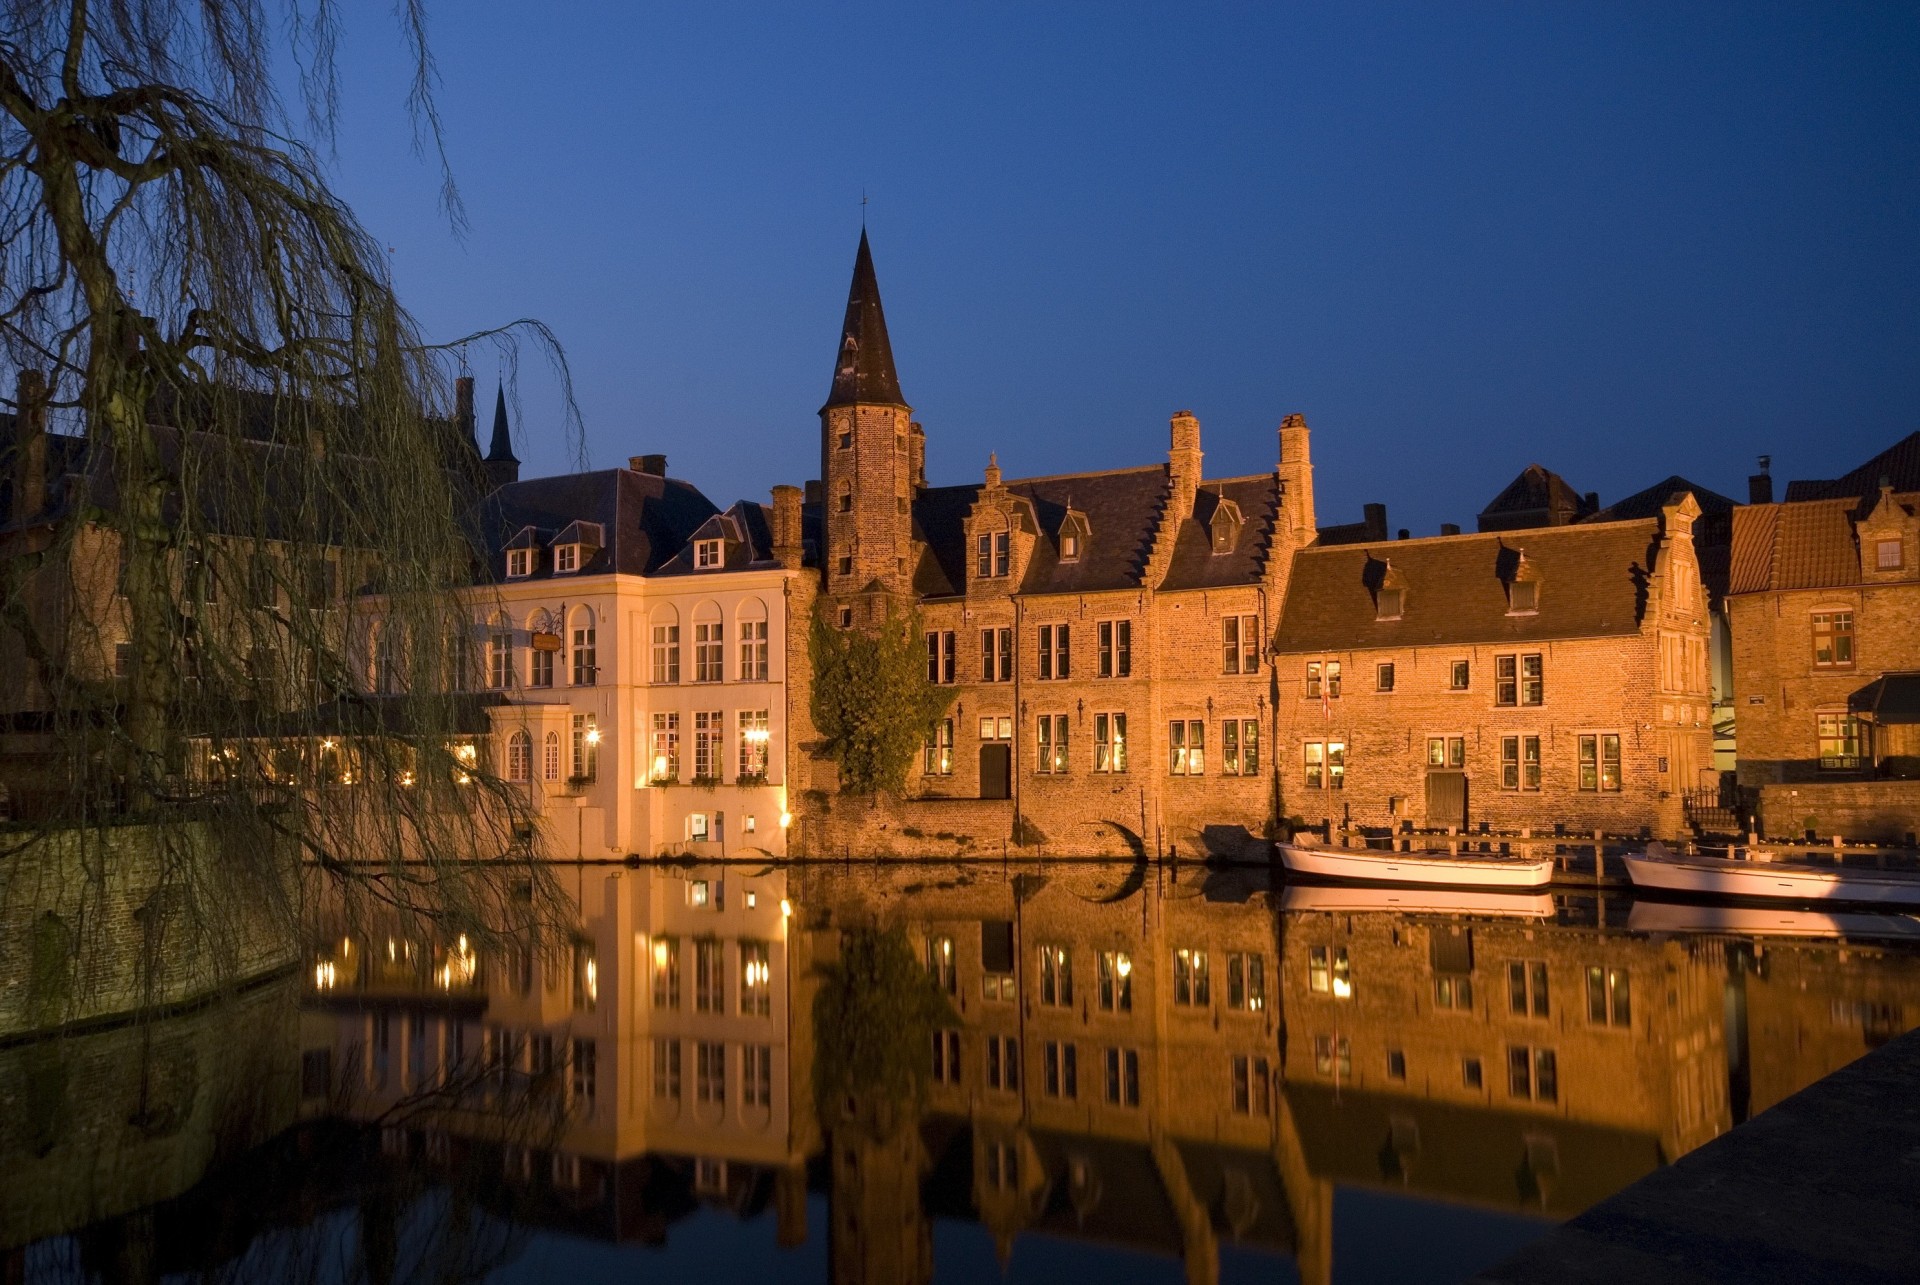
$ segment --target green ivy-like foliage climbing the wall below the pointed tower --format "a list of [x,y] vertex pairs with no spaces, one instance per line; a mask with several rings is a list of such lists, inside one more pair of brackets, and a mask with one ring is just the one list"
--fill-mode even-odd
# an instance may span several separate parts
[[810,643],[814,726],[839,761],[841,793],[899,793],[952,703],[927,682],[918,617],[889,613],[874,630],[843,630],[818,607]]

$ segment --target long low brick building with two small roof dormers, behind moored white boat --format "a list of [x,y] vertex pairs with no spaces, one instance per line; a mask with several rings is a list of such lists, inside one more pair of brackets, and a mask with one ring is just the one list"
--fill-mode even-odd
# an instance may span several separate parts
[[1713,772],[1692,494],[1655,519],[1294,553],[1283,807],[1334,826],[1674,834]]

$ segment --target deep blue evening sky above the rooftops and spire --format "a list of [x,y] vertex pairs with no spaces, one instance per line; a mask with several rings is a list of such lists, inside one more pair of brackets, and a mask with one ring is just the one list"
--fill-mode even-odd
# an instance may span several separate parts
[[718,503],[818,467],[862,190],[933,482],[1160,461],[1181,407],[1256,473],[1300,411],[1323,521],[1430,534],[1528,461],[1743,497],[1920,428],[1916,6],[442,0],[465,242],[365,8],[338,173],[403,298],[541,317],[593,463]]

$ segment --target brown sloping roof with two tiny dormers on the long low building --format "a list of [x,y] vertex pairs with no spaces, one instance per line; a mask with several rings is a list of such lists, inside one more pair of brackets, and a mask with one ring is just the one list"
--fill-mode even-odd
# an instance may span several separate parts
[[[1281,651],[1428,643],[1523,643],[1634,634],[1659,522],[1592,522],[1524,532],[1432,536],[1294,553]],[[1507,584],[1524,553],[1540,609],[1507,615]],[[1373,588],[1392,565],[1402,617],[1375,618]]]

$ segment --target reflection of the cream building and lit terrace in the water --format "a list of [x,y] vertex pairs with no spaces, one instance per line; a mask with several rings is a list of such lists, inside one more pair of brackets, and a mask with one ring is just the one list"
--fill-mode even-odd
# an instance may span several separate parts
[[[699,1200],[774,1202],[804,1237],[810,1110],[793,1110],[785,878],[741,866],[586,872],[580,930],[492,958],[374,937],[315,960],[309,1097],[399,1118],[428,1160],[499,1149],[566,1224],[657,1239]],[[804,1045],[803,1045],[804,1047]],[[319,1106],[319,1101],[315,1101]],[[555,1214],[559,1218],[559,1214]]]

